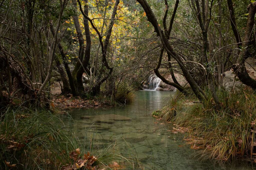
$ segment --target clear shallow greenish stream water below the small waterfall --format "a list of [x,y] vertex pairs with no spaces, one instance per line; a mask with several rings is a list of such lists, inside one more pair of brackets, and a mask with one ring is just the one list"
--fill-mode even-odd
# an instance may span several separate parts
[[[97,139],[99,148],[116,142],[119,143],[116,147],[120,151],[126,150],[128,143],[135,148],[142,162],[152,165],[152,162],[155,162],[162,166],[161,168],[154,165],[154,169],[254,169],[253,165],[246,163],[225,164],[220,167],[209,161],[197,160],[193,156],[195,151],[182,140],[182,134],[167,132],[167,125],[160,124],[162,122],[151,116],[151,113],[161,109],[173,94],[174,92],[167,91],[136,91],[134,101],[126,106],[72,109],[69,114],[81,140],[85,135],[87,138],[93,136]],[[108,120],[113,117],[109,114],[125,116],[130,120]],[[87,117],[81,119],[84,116]]]

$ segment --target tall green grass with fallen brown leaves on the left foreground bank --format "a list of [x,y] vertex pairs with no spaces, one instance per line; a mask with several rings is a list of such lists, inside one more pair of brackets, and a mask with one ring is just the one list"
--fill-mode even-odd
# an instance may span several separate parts
[[60,169],[62,165],[73,164],[69,153],[77,148],[81,157],[89,151],[97,158],[93,166],[111,169],[113,161],[126,167],[143,166],[130,153],[114,151],[112,145],[100,150],[93,145],[92,138],[81,142],[74,128],[65,130],[61,116],[48,110],[7,107],[1,114],[0,169],[8,169],[12,164],[17,169]]

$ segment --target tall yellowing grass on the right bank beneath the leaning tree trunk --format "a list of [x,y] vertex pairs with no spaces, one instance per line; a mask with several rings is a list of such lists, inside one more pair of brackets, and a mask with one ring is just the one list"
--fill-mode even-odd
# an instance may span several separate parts
[[159,115],[180,127],[189,127],[189,144],[206,159],[227,161],[256,153],[256,95],[252,90],[230,93],[219,90],[220,109],[212,100],[193,103],[194,98],[173,99]]

